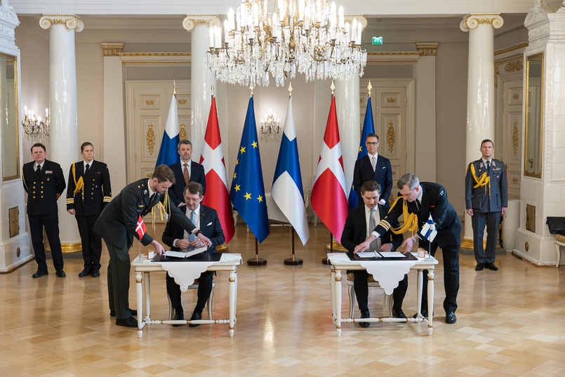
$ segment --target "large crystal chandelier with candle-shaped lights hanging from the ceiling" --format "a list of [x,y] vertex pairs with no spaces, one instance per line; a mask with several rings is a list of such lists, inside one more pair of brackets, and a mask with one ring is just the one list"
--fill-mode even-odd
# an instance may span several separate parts
[[[220,27],[210,28],[206,67],[216,79],[244,86],[277,86],[296,72],[314,79],[345,79],[364,73],[367,52],[361,48],[361,22],[345,22],[343,7],[326,0],[279,0],[276,13],[268,1],[241,0]],[[274,6],[273,6],[274,11]]]

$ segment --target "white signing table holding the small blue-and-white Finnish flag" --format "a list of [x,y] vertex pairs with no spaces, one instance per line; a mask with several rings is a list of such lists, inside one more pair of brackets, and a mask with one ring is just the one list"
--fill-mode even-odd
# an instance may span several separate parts
[[[416,253],[412,253],[413,256],[416,256]],[[330,261],[331,265],[333,266],[331,271],[331,293],[332,293],[332,305],[333,305],[333,312],[332,312],[332,320],[335,324],[335,329],[338,331],[338,336],[341,336],[341,322],[427,322],[427,333],[428,335],[432,335],[433,332],[433,324],[432,324],[432,315],[434,312],[434,268],[437,265],[437,259],[430,256],[429,258],[420,258],[417,257],[418,260],[412,261],[413,263],[408,263],[408,265],[412,264],[409,270],[418,270],[418,316],[416,318],[363,318],[363,319],[354,319],[354,318],[341,318],[341,277],[343,270],[368,270],[369,273],[373,273],[373,278],[376,282],[379,282],[380,286],[385,288],[385,292],[387,294],[392,294],[392,292],[387,291],[387,287],[398,286],[399,280],[404,278],[404,272],[401,274],[397,274],[397,277],[391,275],[390,268],[380,269],[380,271],[369,271],[368,268],[362,266],[361,264],[367,266],[368,263],[379,263],[380,267],[383,266],[384,263],[388,263],[386,266],[392,266],[392,263],[395,263],[394,260],[350,260],[347,256],[347,253],[329,253],[328,260]],[[404,261],[402,261],[404,262]],[[422,314],[422,288],[423,288],[423,270],[427,270],[427,302],[428,302],[428,317],[425,319]],[[387,271],[387,272],[384,272]],[[380,276],[379,275],[380,272]],[[408,272],[408,271],[406,271]],[[394,280],[394,281],[393,281]]]

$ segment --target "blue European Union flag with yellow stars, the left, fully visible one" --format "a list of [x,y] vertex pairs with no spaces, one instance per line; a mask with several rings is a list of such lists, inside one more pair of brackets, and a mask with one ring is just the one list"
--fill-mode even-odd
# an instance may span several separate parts
[[239,152],[237,152],[235,161],[230,199],[234,209],[244,219],[251,232],[255,234],[259,242],[263,242],[269,235],[270,228],[253,97],[249,98],[244,132],[241,135]]

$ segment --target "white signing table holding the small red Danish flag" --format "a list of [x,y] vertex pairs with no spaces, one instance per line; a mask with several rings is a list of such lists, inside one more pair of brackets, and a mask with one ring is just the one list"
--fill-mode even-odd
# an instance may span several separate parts
[[[241,264],[241,254],[237,253],[230,253],[230,254],[222,254],[222,258],[218,262],[152,262],[151,260],[145,259],[145,256],[138,256],[131,262],[131,267],[135,270],[135,293],[138,302],[138,338],[141,338],[143,335],[143,328],[145,325],[150,324],[187,324],[187,323],[194,323],[194,324],[230,324],[230,336],[234,336],[234,326],[236,322],[236,303],[237,303],[237,265]],[[164,267],[163,265],[167,265]],[[183,268],[184,275],[182,276],[182,282],[179,282],[175,279],[181,286],[182,291],[186,291],[186,287],[192,282],[194,279],[198,279],[200,273],[203,271],[228,271],[230,272],[229,284],[230,284],[230,318],[229,319],[199,319],[194,321],[174,321],[174,320],[152,320],[150,318],[151,315],[151,307],[150,307],[150,300],[149,300],[149,293],[150,293],[150,279],[149,279],[149,272],[166,272],[171,270],[171,267],[174,269],[174,265],[182,266],[182,267],[190,267],[190,268]],[[192,265],[192,266],[189,266]],[[143,279],[143,275],[145,275],[145,281]],[[173,276],[173,275],[171,275]],[[142,284],[143,282],[143,284]],[[143,289],[145,287],[145,307],[147,307],[147,316],[144,318],[142,314],[143,310]]]

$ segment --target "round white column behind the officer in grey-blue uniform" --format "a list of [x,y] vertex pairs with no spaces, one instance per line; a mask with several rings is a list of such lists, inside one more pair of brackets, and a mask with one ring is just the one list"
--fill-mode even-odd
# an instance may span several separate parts
[[[465,168],[480,157],[481,140],[494,140],[494,29],[503,26],[498,14],[467,15],[459,27],[469,32],[467,67],[467,142]],[[485,234],[486,236],[486,234]],[[461,246],[472,249],[471,216],[465,213]]]

